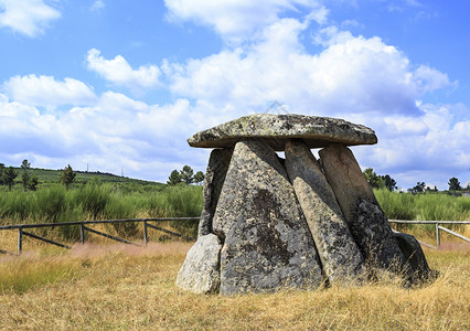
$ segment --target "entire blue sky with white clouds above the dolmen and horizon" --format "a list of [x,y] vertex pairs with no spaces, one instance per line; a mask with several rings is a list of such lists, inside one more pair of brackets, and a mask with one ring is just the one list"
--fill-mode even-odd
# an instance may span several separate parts
[[0,162],[164,182],[274,103],[374,129],[362,168],[470,181],[468,1],[0,0]]

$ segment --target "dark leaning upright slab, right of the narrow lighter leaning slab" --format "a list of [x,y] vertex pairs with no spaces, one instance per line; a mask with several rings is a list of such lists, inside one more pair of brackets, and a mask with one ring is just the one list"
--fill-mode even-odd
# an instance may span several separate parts
[[345,146],[331,145],[319,153],[328,182],[366,263],[373,267],[405,271],[406,259],[351,150]]

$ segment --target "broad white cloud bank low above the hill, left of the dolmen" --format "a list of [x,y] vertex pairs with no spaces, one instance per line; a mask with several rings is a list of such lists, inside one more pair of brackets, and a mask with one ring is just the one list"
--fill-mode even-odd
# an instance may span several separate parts
[[42,114],[33,106],[0,94],[0,159],[18,166],[108,171],[164,181],[173,169],[189,163],[205,169],[204,152],[185,138],[194,132],[188,100],[158,106],[106,92],[88,107]]

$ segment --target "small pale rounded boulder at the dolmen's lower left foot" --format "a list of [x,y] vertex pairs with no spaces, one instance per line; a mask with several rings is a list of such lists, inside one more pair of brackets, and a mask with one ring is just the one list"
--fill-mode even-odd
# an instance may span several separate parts
[[178,273],[177,286],[195,293],[213,293],[221,285],[222,244],[214,234],[197,238]]

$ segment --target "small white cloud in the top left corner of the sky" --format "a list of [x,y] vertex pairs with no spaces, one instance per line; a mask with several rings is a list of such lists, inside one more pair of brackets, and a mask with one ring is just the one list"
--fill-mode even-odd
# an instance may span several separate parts
[[61,12],[44,0],[0,0],[0,26],[34,38]]

